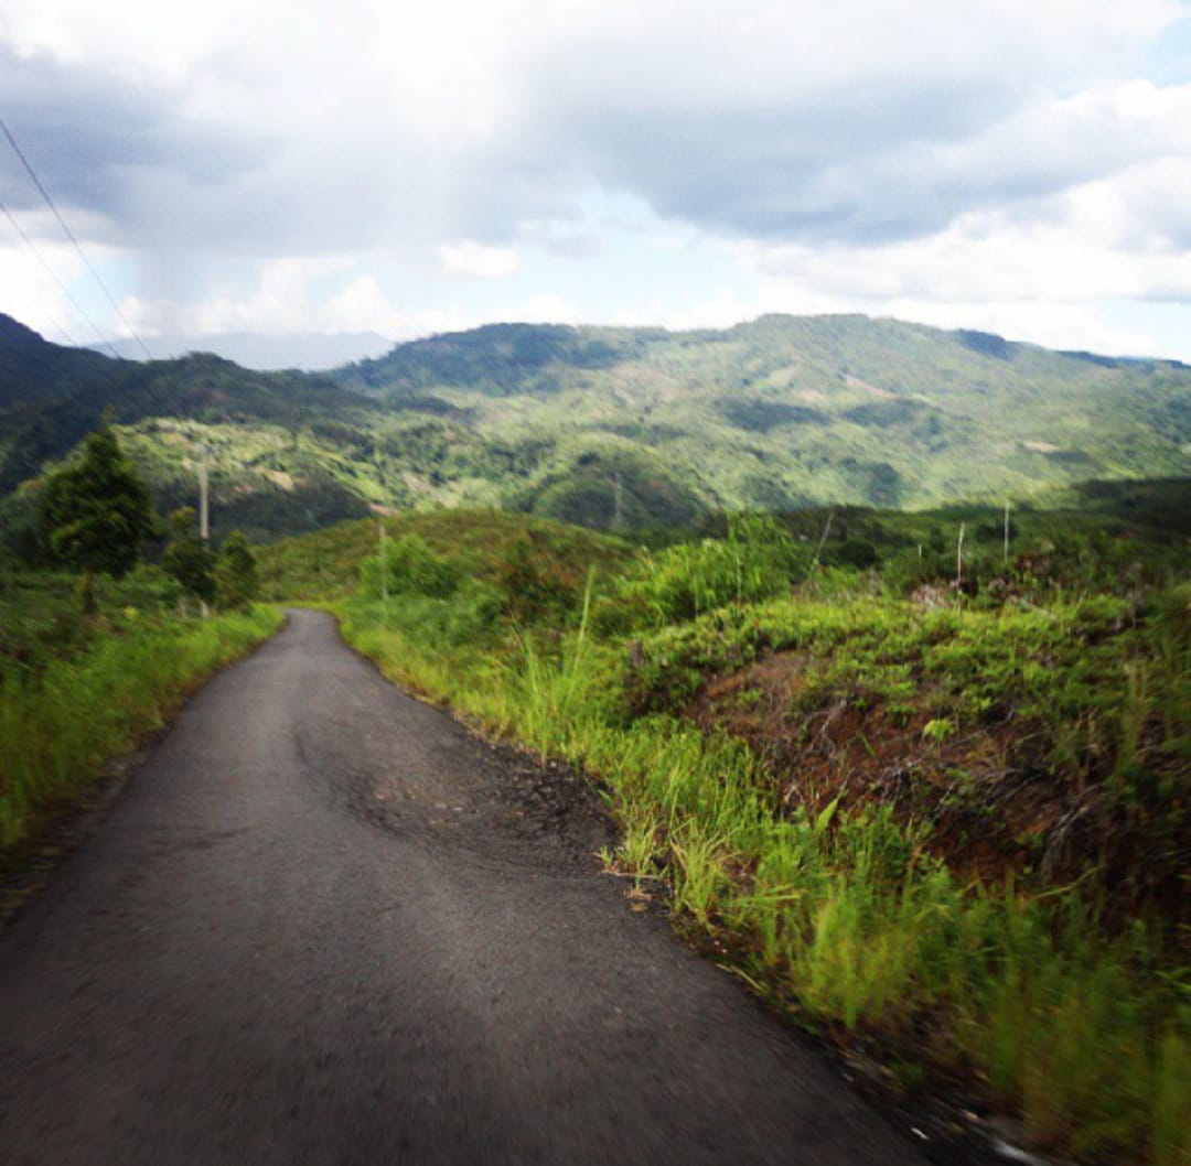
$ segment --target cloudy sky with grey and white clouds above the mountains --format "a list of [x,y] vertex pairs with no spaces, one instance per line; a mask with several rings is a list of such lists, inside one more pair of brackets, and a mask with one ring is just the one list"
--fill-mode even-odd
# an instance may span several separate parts
[[0,117],[119,301],[0,138],[0,311],[55,339],[866,312],[1191,361],[1185,0],[0,0]]

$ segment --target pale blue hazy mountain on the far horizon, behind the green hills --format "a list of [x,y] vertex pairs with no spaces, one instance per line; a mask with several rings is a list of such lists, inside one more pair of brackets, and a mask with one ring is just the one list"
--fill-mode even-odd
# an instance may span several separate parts
[[[188,352],[213,352],[225,361],[235,361],[245,369],[333,369],[351,361],[380,356],[393,341],[376,332],[317,332],[288,336],[264,336],[255,332],[222,332],[216,336],[156,336],[146,340],[149,351],[158,361],[167,361]],[[139,359],[144,356],[135,340],[117,340],[116,351],[121,357]],[[108,351],[98,349],[96,351]]]

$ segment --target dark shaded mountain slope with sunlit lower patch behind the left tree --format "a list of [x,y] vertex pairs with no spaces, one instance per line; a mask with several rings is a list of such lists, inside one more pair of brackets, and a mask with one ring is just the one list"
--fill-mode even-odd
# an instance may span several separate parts
[[241,525],[267,537],[367,513],[358,490],[303,449],[303,434],[324,418],[369,428],[382,416],[375,402],[323,377],[251,372],[210,353],[113,361],[0,316],[0,496],[32,479],[6,507],[10,525],[31,510],[36,497],[25,495],[36,495],[45,465],[105,414],[121,427],[160,509],[193,500],[206,446],[222,493],[217,529]]

